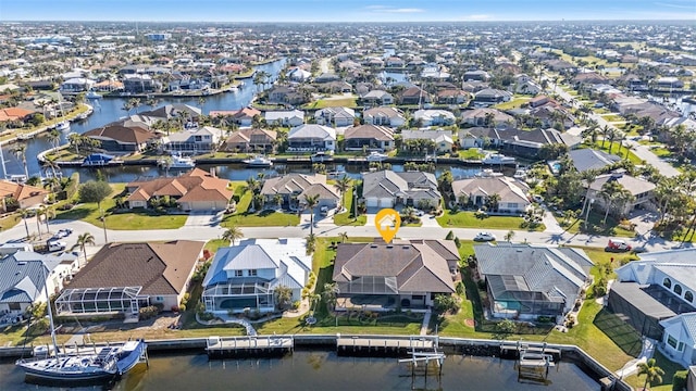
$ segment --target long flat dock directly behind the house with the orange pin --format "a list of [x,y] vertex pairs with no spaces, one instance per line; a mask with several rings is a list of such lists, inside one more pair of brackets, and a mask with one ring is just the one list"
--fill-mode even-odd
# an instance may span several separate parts
[[395,357],[410,354],[414,351],[433,351],[438,345],[437,337],[360,337],[338,336],[336,352],[338,355],[350,356],[385,356]]

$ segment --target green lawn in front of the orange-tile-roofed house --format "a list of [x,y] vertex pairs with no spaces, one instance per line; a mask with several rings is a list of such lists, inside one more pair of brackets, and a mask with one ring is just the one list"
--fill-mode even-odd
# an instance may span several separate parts
[[[158,215],[152,211],[133,211],[116,213],[116,197],[121,195],[125,189],[125,184],[112,184],[113,192],[102,203],[108,229],[176,229],[184,226],[187,215]],[[70,211],[59,211],[55,214],[59,219],[80,219],[83,222],[101,227],[99,207],[96,203],[77,204]]]

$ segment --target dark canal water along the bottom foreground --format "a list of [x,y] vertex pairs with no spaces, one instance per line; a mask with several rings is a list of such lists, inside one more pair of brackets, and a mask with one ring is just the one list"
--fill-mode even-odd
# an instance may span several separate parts
[[[136,367],[120,381],[82,390],[599,390],[577,366],[561,362],[547,383],[518,381],[513,361],[448,355],[437,371],[411,377],[396,358],[339,357],[333,351],[295,351],[283,358],[214,360],[206,354],[150,356],[150,367]],[[11,362],[0,363],[0,389],[58,390],[24,382]],[[66,388],[62,388],[66,389]]]

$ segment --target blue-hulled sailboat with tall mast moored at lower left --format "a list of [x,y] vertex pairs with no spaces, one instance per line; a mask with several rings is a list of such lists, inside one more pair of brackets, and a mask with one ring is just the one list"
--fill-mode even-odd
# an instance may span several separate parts
[[[41,267],[44,272],[45,267]],[[44,283],[46,297],[48,285]],[[55,342],[55,325],[51,305],[47,305],[51,342],[48,354],[39,358],[18,360],[15,364],[27,377],[52,381],[97,381],[121,376],[142,360],[147,360],[147,344],[142,340],[128,341],[122,345],[103,346],[91,354],[60,352]],[[52,353],[52,354],[51,354]]]

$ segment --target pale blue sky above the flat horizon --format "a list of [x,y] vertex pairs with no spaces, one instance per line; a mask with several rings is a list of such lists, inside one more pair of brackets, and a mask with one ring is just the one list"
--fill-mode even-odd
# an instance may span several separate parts
[[0,0],[0,21],[695,20],[696,0]]

